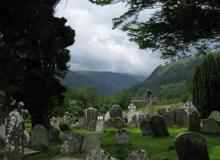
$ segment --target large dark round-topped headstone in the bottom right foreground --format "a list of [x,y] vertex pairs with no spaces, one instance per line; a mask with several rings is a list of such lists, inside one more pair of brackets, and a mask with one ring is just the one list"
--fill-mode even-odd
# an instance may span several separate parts
[[209,160],[205,138],[197,132],[186,132],[175,138],[179,160]]

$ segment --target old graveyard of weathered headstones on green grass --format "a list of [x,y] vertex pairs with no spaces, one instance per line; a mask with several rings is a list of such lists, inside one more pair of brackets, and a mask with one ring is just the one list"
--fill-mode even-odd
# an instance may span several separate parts
[[190,102],[159,109],[154,115],[138,111],[134,104],[127,111],[113,105],[102,116],[89,107],[82,122],[75,124],[68,117],[51,117],[49,131],[40,124],[31,129],[23,105],[19,102],[1,124],[1,159],[218,160],[220,156],[219,112],[201,119]]

